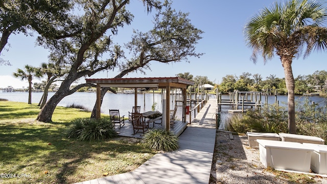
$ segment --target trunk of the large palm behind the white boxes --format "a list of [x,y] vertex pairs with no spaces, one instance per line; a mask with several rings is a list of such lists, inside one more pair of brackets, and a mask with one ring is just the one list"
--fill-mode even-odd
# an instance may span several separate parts
[[289,133],[296,134],[295,124],[295,100],[294,100],[294,77],[292,71],[292,59],[281,57],[281,61],[284,67],[285,83],[288,92],[287,104],[288,104],[288,129]]

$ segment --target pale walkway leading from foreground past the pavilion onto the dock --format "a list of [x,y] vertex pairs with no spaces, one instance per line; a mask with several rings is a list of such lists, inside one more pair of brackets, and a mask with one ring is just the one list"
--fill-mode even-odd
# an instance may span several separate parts
[[[158,153],[132,172],[80,183],[208,183],[216,139],[217,99],[210,99],[179,136],[176,152]],[[205,128],[202,128],[205,127]]]

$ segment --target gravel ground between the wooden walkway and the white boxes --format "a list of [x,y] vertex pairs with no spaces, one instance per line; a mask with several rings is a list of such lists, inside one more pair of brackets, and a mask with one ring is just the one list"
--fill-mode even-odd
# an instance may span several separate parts
[[[310,176],[290,182],[282,176],[275,176],[260,162],[258,149],[250,148],[246,135],[232,135],[218,131],[211,172],[212,183],[327,183],[326,178]],[[300,174],[298,174],[300,175]],[[307,177],[308,178],[308,177]]]

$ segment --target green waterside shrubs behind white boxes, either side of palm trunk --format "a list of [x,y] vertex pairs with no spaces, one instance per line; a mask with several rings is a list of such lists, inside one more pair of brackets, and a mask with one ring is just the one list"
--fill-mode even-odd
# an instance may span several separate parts
[[[311,100],[299,98],[295,101],[295,122],[297,134],[317,136],[327,142],[327,106],[320,107]],[[288,112],[286,107],[265,105],[261,110],[247,111],[229,117],[225,129],[245,133],[288,132]]]

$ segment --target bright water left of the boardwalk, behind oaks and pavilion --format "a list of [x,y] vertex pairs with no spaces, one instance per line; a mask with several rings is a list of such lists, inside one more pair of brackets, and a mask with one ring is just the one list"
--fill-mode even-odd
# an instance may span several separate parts
[[[48,95],[48,100],[54,95],[54,92],[50,92]],[[32,103],[38,104],[43,93],[32,93]],[[7,99],[9,101],[15,102],[28,102],[29,94],[27,92],[15,92],[15,93],[1,93],[1,99]],[[176,97],[178,98],[178,97]],[[58,106],[66,107],[70,104],[82,105],[88,110],[92,110],[97,99],[96,93],[87,93],[87,92],[77,92],[72,95],[64,97],[58,104]],[[155,110],[162,112],[162,101],[161,94],[137,94],[137,104],[141,106],[141,112],[152,110],[153,103],[157,103]],[[180,97],[181,99],[181,97]],[[175,106],[175,97],[171,97],[171,107],[174,109]],[[178,106],[181,106],[181,102],[177,103]],[[119,109],[121,116],[128,116],[128,112],[132,111],[134,106],[134,94],[112,94],[107,93],[101,105],[101,112],[109,114],[109,109]],[[194,106],[194,104],[192,104]],[[191,107],[192,108],[192,107]],[[181,107],[177,108],[176,116],[177,119],[181,120],[182,112]]]

